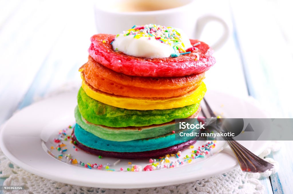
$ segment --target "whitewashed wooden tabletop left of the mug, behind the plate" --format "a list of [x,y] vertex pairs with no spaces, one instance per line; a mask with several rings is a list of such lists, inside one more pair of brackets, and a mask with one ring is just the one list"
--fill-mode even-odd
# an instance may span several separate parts
[[[17,108],[33,102],[25,97],[31,95],[33,99],[68,81],[79,80],[75,70],[86,61],[89,37],[95,33],[93,13],[80,12],[88,9],[88,4],[68,6],[64,1],[58,5],[25,1],[21,8],[11,8],[17,13],[7,13],[9,22],[2,23],[0,59],[5,71],[0,71],[0,123]],[[68,14],[63,13],[65,7]],[[68,46],[72,42],[75,46]]]

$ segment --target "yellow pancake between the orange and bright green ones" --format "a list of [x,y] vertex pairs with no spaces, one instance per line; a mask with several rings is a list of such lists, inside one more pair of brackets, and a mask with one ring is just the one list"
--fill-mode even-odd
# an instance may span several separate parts
[[86,94],[100,102],[111,105],[113,107],[119,107],[124,109],[133,110],[154,110],[154,109],[173,109],[179,107],[185,107],[191,104],[196,104],[202,100],[207,91],[205,83],[192,90],[185,95],[171,97],[171,98],[140,98],[140,97],[125,97],[108,94],[93,88],[89,85],[82,76],[81,87]]

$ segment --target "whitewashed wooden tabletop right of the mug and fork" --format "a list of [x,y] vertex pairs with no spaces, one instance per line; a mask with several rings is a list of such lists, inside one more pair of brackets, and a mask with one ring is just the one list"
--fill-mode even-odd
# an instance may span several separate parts
[[[293,53],[276,18],[281,8],[277,12],[276,1],[230,2],[249,94],[266,107],[272,118],[292,118],[292,92],[288,87],[293,83]],[[267,193],[292,192],[293,154],[288,148],[293,142],[284,144],[280,152],[268,156],[280,163],[280,170],[261,180]]]

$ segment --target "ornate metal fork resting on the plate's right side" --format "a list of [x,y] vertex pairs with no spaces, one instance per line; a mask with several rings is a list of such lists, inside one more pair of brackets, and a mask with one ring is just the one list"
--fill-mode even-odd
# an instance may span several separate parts
[[[205,103],[205,107],[207,108],[207,111],[210,117],[207,117],[207,112],[205,112],[204,109],[202,109],[201,111],[203,116],[205,118],[217,118],[217,116],[214,114],[214,112],[212,111],[211,107],[209,106],[205,98],[203,99],[203,102]],[[220,129],[215,127],[215,130],[219,132]],[[274,167],[273,164],[256,156],[251,151],[243,147],[236,140],[234,140],[232,137],[223,137],[223,138],[231,147],[231,150],[234,152],[242,171],[265,172]]]

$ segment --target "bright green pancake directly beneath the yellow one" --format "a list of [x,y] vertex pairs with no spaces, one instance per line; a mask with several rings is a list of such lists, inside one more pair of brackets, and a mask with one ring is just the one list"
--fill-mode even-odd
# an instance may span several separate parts
[[77,95],[81,116],[88,122],[108,127],[149,126],[193,115],[200,103],[165,110],[129,110],[113,107],[88,97],[82,88]]

